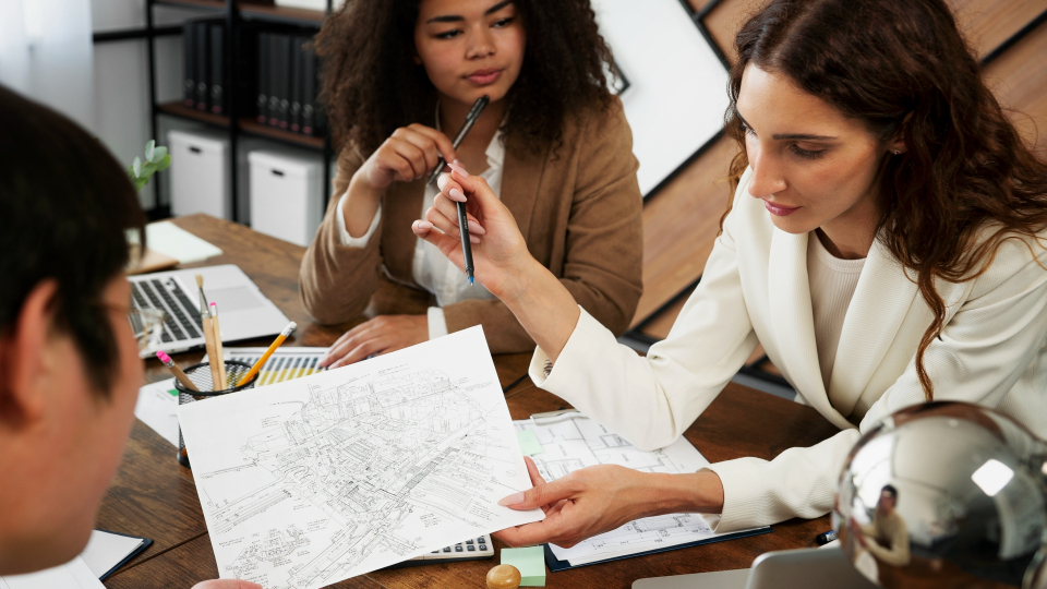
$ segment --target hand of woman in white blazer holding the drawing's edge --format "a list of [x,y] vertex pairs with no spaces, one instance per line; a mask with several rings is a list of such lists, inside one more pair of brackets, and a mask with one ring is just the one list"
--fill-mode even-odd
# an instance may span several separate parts
[[494,532],[510,546],[552,542],[570,548],[586,538],[613,530],[638,517],[651,505],[643,473],[601,465],[576,470],[546,483],[530,458],[524,458],[534,486],[498,502],[513,509],[541,507],[545,519]]

